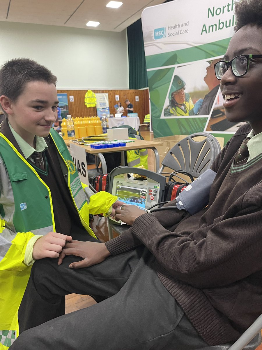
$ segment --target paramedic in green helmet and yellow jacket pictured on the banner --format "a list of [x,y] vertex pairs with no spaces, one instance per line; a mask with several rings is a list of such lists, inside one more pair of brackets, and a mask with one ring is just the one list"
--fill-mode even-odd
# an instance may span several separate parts
[[198,100],[194,105],[190,95],[185,92],[184,80],[175,75],[169,90],[169,105],[164,110],[165,117],[195,116],[201,107],[203,100]]

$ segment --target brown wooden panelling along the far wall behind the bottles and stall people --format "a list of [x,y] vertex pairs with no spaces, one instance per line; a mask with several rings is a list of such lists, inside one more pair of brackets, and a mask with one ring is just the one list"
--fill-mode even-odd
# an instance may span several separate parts
[[[58,93],[67,93],[68,110],[72,117],[91,117],[96,116],[96,107],[85,106],[85,94],[87,90],[57,90]],[[119,101],[125,108],[125,100],[134,106],[134,112],[138,113],[140,123],[143,123],[144,117],[149,113],[148,89],[146,90],[92,90],[94,93],[108,93],[109,109],[111,114],[115,114],[114,105],[117,103],[115,96],[119,95]],[[74,96],[74,102],[69,101],[69,96]],[[136,102],[136,96],[139,101]]]

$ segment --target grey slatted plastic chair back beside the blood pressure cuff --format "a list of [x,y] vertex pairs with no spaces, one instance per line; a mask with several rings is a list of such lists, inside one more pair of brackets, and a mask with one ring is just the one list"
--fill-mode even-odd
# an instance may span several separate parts
[[[204,136],[202,141],[194,139]],[[191,134],[170,149],[162,161],[158,173],[162,173],[165,167],[173,170],[186,170],[193,177],[198,177],[209,169],[218,153],[221,151],[218,140],[208,133]]]

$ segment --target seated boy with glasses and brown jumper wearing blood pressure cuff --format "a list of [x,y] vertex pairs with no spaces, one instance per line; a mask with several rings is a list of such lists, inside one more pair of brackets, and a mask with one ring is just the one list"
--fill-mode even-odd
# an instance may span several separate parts
[[[216,73],[228,120],[249,123],[213,163],[208,207],[125,205],[116,218],[132,226],[121,236],[68,242],[58,264],[37,261],[22,301],[27,330],[10,349],[203,349],[234,341],[262,313],[262,2],[242,0],[235,13]],[[111,297],[54,318],[72,292]]]

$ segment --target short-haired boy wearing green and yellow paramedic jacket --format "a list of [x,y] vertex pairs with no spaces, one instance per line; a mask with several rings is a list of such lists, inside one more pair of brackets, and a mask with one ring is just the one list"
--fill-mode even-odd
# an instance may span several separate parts
[[[35,260],[58,258],[73,239],[96,241],[89,213],[114,215],[122,202],[79,179],[57,118],[57,78],[27,58],[0,69],[0,349],[19,334],[18,309]],[[73,240],[74,241],[74,240]],[[23,317],[23,311],[19,311]],[[64,306],[59,313],[64,314]]]

